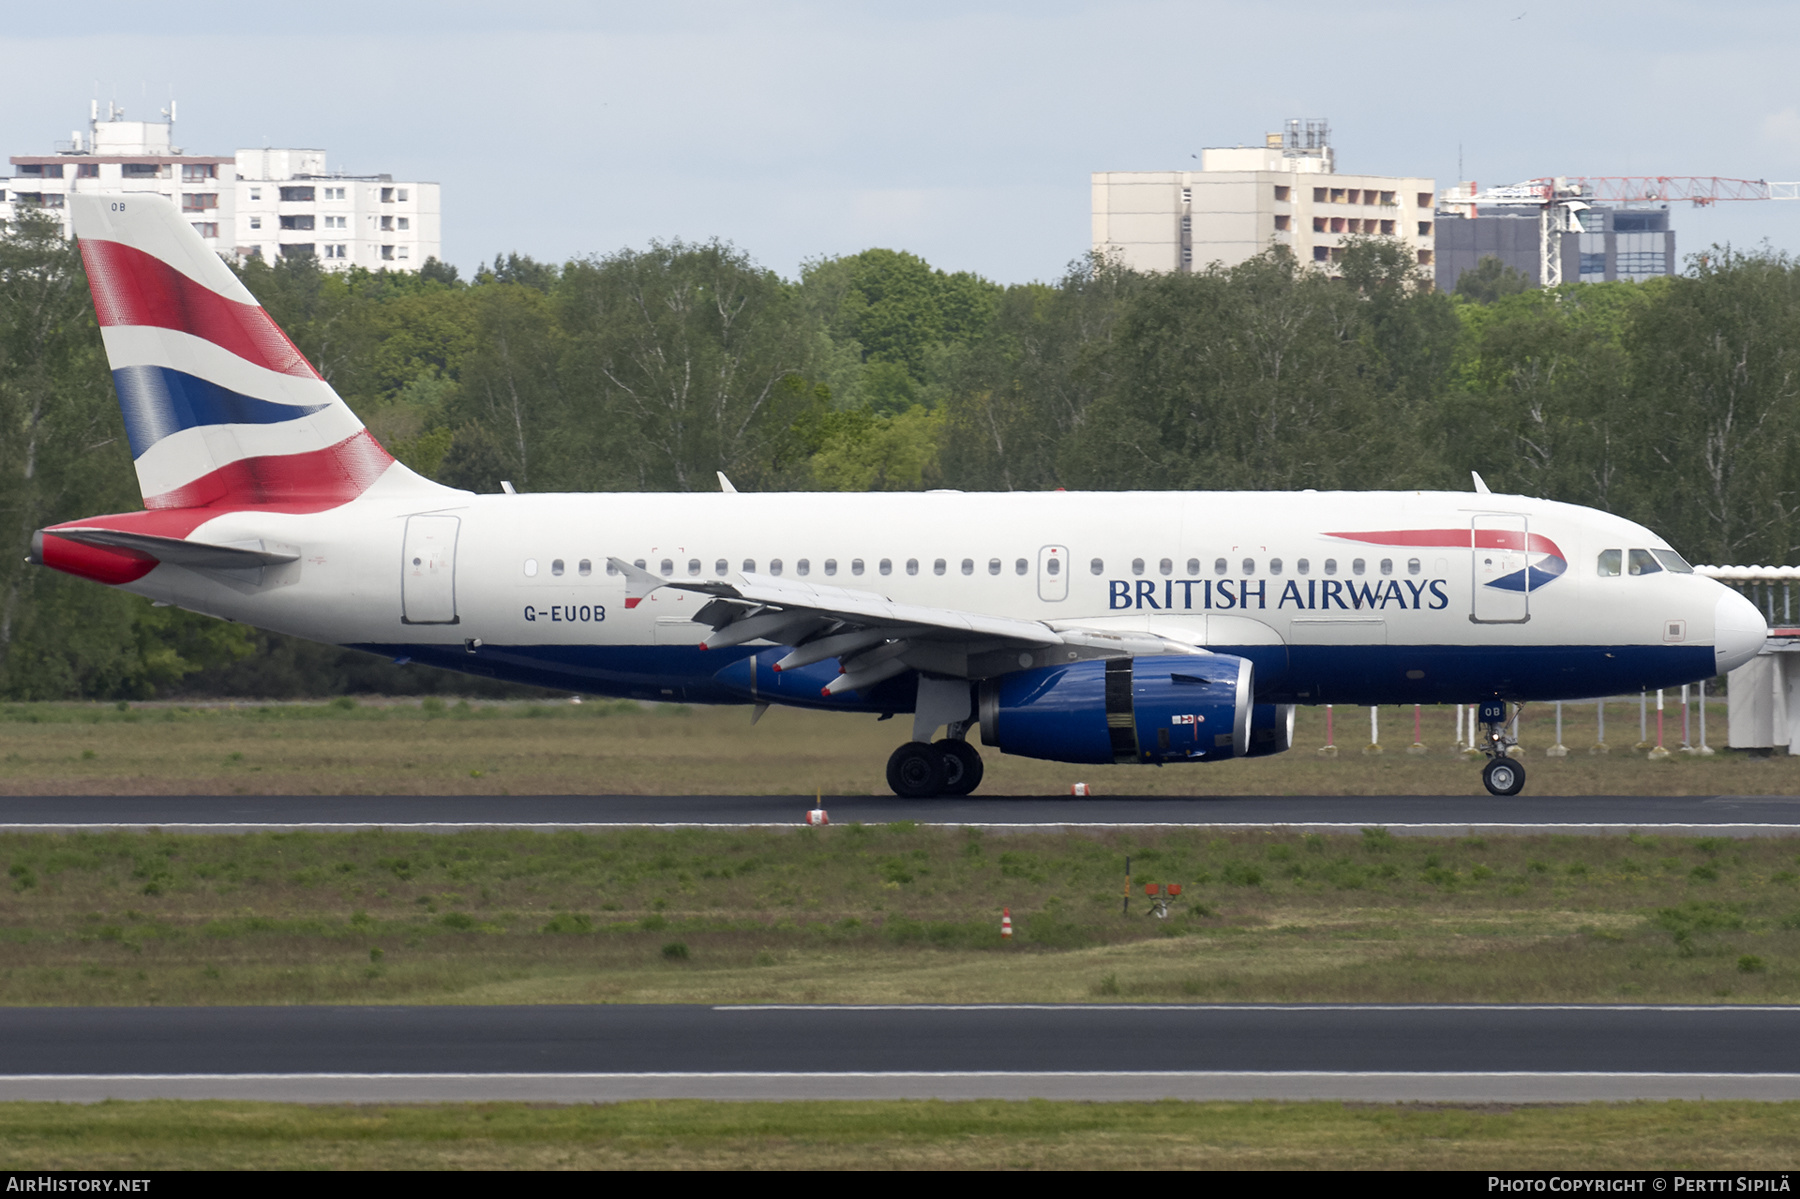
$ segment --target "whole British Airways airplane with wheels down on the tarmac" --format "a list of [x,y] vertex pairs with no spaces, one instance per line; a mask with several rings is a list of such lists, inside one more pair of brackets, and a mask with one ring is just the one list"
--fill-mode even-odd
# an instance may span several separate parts
[[[68,196],[144,509],[31,562],[396,661],[580,693],[909,713],[887,783],[1001,753],[1289,749],[1296,704],[1517,708],[1712,679],[1757,609],[1651,529],[1476,491],[477,495],[394,461],[175,207]],[[1508,706],[1512,715],[1508,717]],[[943,736],[932,740],[938,729]]]

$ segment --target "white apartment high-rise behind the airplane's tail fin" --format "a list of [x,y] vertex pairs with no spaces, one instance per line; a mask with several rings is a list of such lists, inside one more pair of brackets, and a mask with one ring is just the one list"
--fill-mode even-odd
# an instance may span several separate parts
[[162,121],[126,121],[95,103],[49,155],[14,155],[0,220],[23,209],[58,216],[70,193],[160,194],[223,257],[311,256],[333,270],[418,270],[441,252],[439,185],[326,169],[322,149],[189,155],[175,146],[175,104]]

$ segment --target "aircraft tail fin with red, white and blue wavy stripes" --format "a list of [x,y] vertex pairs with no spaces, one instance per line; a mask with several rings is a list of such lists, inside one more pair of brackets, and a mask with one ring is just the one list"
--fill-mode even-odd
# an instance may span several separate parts
[[347,504],[396,463],[162,196],[68,196],[144,508]]

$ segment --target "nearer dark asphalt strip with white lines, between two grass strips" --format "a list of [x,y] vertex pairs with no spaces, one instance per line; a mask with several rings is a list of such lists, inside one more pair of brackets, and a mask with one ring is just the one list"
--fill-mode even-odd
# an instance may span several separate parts
[[0,1008],[0,1100],[1800,1098],[1800,1008]]

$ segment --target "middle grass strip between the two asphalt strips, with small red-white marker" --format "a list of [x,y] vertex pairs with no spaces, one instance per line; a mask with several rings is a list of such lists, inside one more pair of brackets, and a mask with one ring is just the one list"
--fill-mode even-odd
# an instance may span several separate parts
[[5,1005],[1800,999],[1800,839],[14,834],[0,871]]

